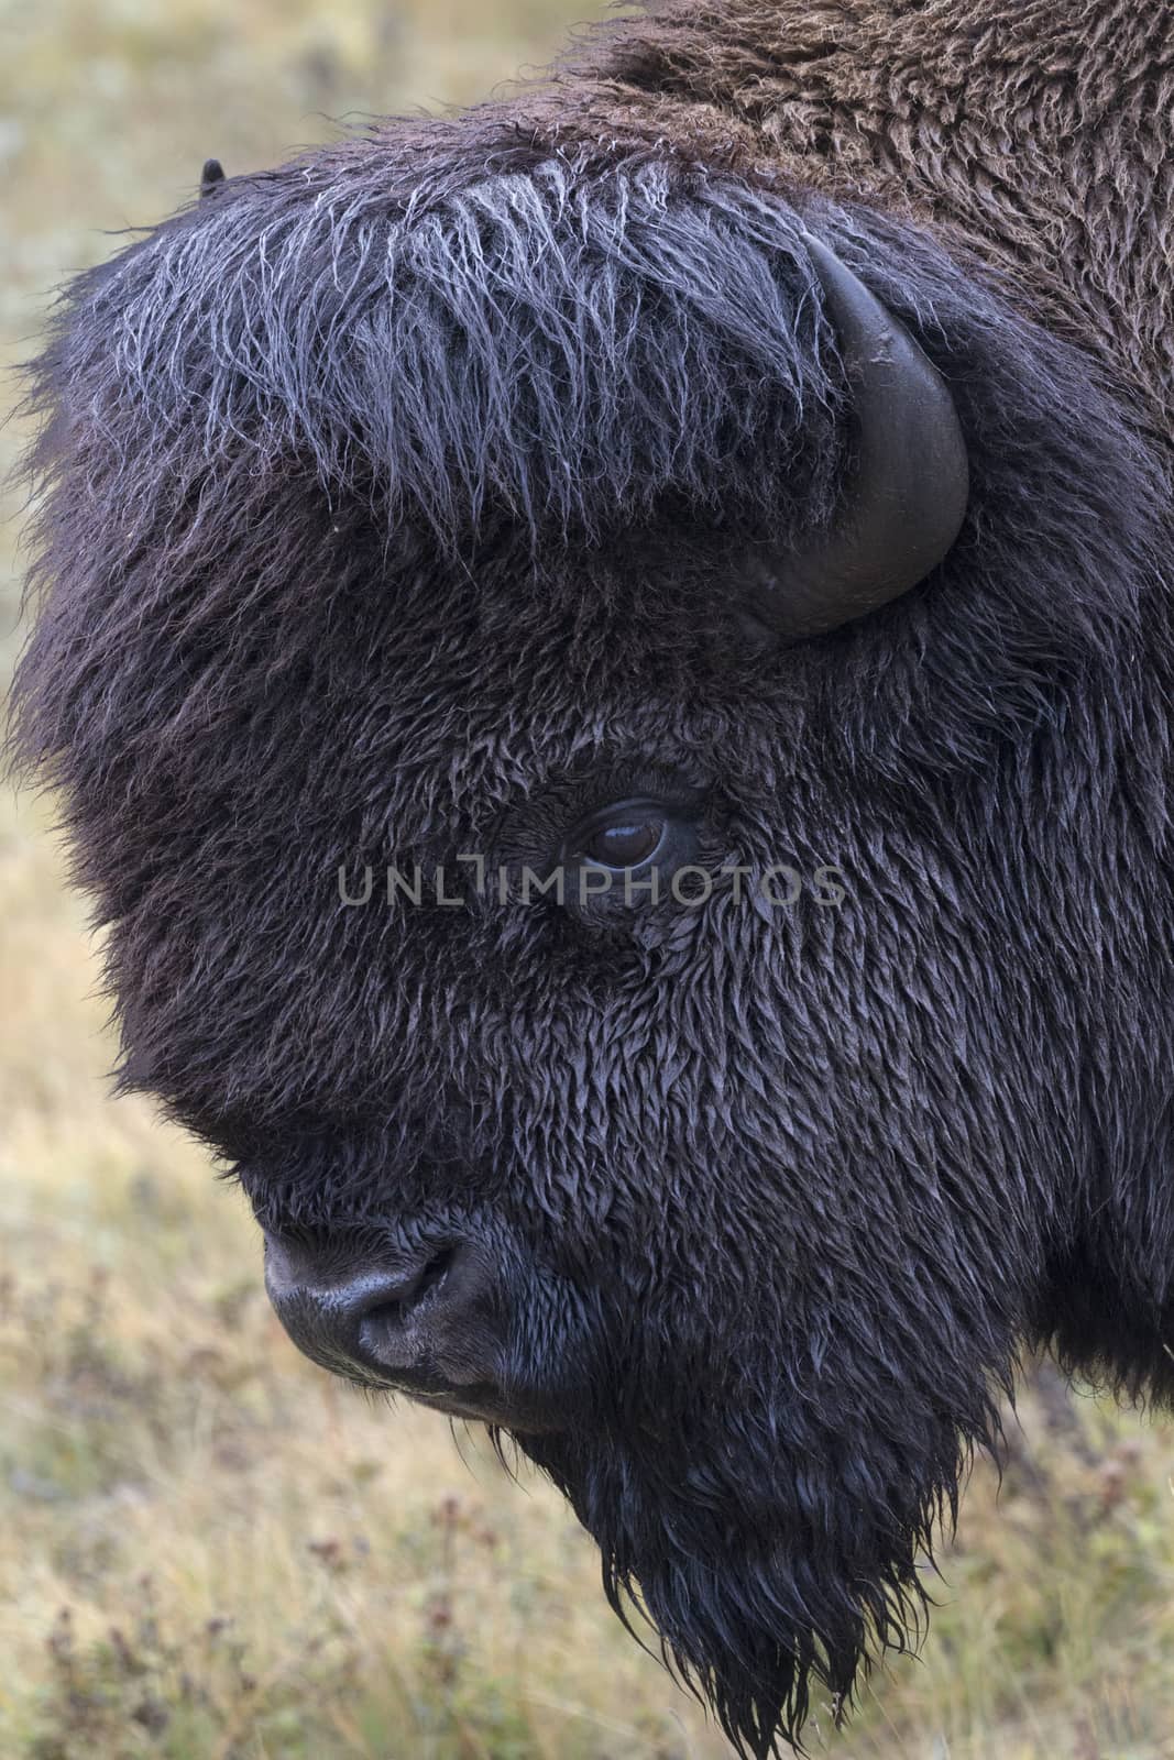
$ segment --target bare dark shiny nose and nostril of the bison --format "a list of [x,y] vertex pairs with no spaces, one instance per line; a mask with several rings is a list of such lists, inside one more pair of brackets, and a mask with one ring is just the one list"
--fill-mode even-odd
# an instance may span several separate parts
[[297,1348],[340,1375],[466,1415],[484,1404],[475,1392],[500,1380],[502,1292],[473,1243],[356,1264],[338,1244],[266,1234],[266,1288]]

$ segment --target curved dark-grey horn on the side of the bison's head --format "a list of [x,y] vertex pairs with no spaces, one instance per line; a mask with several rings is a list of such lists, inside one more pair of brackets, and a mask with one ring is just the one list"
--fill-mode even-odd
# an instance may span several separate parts
[[852,475],[806,549],[757,551],[746,611],[773,635],[824,635],[917,586],[958,537],[966,444],[945,380],[825,245],[804,234],[852,392]]

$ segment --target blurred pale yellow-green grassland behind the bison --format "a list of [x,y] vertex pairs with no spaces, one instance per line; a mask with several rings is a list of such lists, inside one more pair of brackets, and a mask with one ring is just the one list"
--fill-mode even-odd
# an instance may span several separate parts
[[[0,0],[0,468],[51,290],[194,194],[484,97],[590,0]],[[0,509],[0,662],[21,500]],[[0,1755],[720,1760],[591,1542],[475,1429],[301,1360],[239,1197],[113,1042],[53,803],[0,792]],[[841,1760],[1174,1756],[1174,1431],[1035,1366],[921,1660]]]

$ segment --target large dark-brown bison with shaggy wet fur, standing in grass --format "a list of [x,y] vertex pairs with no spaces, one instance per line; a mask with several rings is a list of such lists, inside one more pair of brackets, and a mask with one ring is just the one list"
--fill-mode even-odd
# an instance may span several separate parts
[[120,1081],[741,1753],[1024,1346],[1170,1368],[1165,0],[657,0],[224,180],[33,366]]

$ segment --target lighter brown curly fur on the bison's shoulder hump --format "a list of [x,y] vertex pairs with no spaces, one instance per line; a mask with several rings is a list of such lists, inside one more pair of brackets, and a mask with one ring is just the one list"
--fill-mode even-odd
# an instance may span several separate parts
[[1169,444],[1165,0],[653,0],[526,114],[551,141],[635,134],[931,225],[1100,354]]

